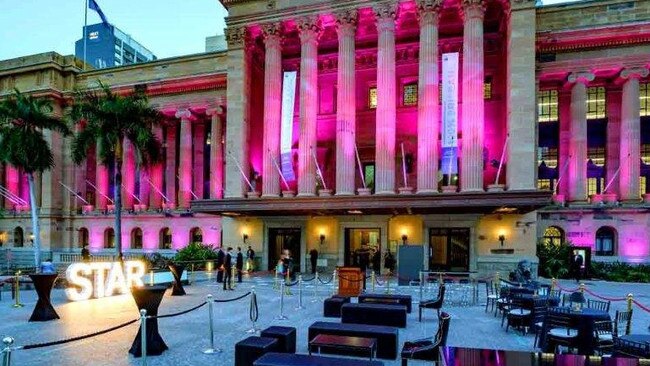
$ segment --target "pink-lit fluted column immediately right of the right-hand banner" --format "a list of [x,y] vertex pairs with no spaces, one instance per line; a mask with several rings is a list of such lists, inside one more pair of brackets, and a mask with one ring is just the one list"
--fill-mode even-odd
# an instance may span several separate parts
[[463,0],[462,192],[483,191],[483,14],[482,0]]

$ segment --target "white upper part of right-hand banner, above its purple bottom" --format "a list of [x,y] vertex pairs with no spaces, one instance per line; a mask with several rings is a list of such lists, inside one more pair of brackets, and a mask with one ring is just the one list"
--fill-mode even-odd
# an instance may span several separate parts
[[458,146],[458,52],[442,54],[442,147]]

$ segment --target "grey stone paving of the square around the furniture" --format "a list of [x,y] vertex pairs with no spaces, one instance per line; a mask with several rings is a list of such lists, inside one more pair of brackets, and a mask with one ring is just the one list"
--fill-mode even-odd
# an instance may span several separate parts
[[[337,321],[333,318],[322,317],[322,300],[328,296],[332,288],[319,286],[318,296],[314,296],[313,282],[305,286],[303,305],[305,309],[295,310],[297,305],[297,290],[285,298],[285,314],[288,320],[278,321],[274,318],[279,314],[279,295],[272,288],[270,278],[245,278],[245,282],[235,291],[223,292],[221,287],[212,281],[197,281],[187,286],[187,296],[171,297],[169,291],[163,299],[160,314],[168,314],[188,309],[205,300],[207,294],[213,294],[218,299],[229,299],[244,294],[251,286],[255,286],[259,300],[258,327],[265,328],[272,324],[294,326],[298,329],[298,353],[307,353],[307,328],[318,320]],[[575,288],[575,283],[562,282],[567,288]],[[606,282],[587,282],[592,291],[611,297],[622,297],[632,292],[640,302],[650,305],[650,285],[648,284],[618,284]],[[392,291],[395,288],[391,288]],[[383,288],[377,288],[383,292]],[[419,299],[417,287],[399,287],[399,293],[410,293],[415,301]],[[69,338],[97,330],[108,328],[122,322],[135,319],[137,308],[130,296],[95,299],[83,302],[68,302],[63,290],[54,290],[53,303],[61,316],[58,321],[46,323],[29,323],[27,319],[35,304],[33,291],[23,292],[25,307],[11,308],[12,300],[8,292],[3,294],[0,301],[0,336],[10,335],[16,339],[16,345],[48,342]],[[433,293],[425,291],[424,297],[433,297]],[[486,314],[484,307],[485,289],[481,287],[478,305],[447,306],[452,316],[448,344],[477,348],[497,348],[509,350],[530,351],[533,347],[533,335],[522,336],[519,333],[506,333],[500,327],[500,318]],[[616,309],[625,308],[624,302],[612,304],[612,314]],[[233,365],[234,344],[248,336],[246,330],[251,327],[248,319],[249,300],[229,303],[216,303],[215,337],[217,345],[223,349],[218,355],[204,355],[201,351],[208,347],[207,307],[174,318],[159,320],[160,333],[165,339],[169,350],[161,356],[149,357],[149,365]],[[408,327],[400,330],[400,343],[406,340],[432,336],[435,333],[437,320],[435,311],[425,313],[423,322],[418,322],[417,306],[408,316]],[[635,308],[633,332],[648,332],[650,314]],[[18,350],[13,353],[12,365],[140,365],[140,359],[128,354],[128,349],[137,332],[137,323],[115,332],[72,342],[34,350]],[[399,365],[399,361],[384,361],[385,365]],[[414,365],[425,364],[414,362]]]

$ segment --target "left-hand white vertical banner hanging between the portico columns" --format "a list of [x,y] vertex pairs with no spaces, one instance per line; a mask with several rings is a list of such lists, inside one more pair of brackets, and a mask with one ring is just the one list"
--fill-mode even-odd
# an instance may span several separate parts
[[296,101],[296,71],[285,71],[282,82],[282,121],[280,124],[280,166],[287,181],[296,180],[291,158],[293,111]]

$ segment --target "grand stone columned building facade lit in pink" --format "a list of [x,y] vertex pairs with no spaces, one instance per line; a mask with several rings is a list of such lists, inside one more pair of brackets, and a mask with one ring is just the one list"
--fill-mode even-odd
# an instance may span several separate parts
[[[490,272],[567,240],[648,259],[650,2],[222,2],[224,52],[88,72],[52,53],[0,62],[0,93],[48,96],[59,113],[98,81],[146,90],[163,112],[163,164],[139,169],[124,150],[127,251],[251,245],[270,269],[288,248],[304,269],[311,249],[332,267],[408,244],[425,268]],[[442,104],[452,54],[457,101]],[[50,138],[47,250],[111,252],[111,168],[75,166]],[[25,257],[25,179],[2,176],[4,255]]]

